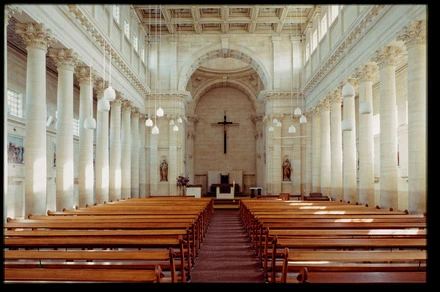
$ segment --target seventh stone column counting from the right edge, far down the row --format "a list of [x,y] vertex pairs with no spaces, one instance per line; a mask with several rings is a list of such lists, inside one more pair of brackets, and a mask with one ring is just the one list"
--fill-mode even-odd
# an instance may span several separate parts
[[321,115],[320,107],[312,109],[312,192],[321,191]]

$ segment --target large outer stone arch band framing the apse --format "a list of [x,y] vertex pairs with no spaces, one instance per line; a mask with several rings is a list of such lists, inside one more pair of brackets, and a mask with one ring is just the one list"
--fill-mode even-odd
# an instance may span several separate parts
[[203,64],[205,61],[216,58],[235,58],[249,64],[262,80],[264,90],[272,89],[272,78],[269,70],[266,68],[264,63],[255,56],[255,52],[252,52],[245,47],[231,44],[229,45],[229,48],[223,48],[219,43],[203,48],[194,55],[194,58],[188,61],[182,68],[182,73],[180,74],[178,83],[179,91],[186,90],[186,85],[191,78],[191,75],[201,64]]

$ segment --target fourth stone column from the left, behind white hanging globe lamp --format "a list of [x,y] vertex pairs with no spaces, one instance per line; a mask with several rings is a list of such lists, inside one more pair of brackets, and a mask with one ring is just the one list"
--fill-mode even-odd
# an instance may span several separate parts
[[[101,81],[102,82],[102,81]],[[98,86],[98,100],[104,98],[104,86]],[[96,117],[96,149],[95,149],[95,176],[96,176],[96,198],[97,204],[109,201],[109,150],[108,150],[108,116],[109,112],[97,111]]]

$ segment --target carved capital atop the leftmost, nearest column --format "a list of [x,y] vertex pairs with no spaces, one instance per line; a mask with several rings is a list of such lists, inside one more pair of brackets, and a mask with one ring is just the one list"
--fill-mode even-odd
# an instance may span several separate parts
[[56,42],[52,30],[42,23],[17,23],[15,31],[23,38],[28,47],[47,50],[52,43]]

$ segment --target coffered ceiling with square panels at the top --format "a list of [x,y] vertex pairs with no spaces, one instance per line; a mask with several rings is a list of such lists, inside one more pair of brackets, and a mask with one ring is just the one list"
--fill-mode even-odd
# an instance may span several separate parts
[[133,5],[147,34],[298,34],[316,5]]

